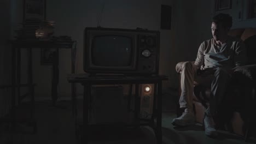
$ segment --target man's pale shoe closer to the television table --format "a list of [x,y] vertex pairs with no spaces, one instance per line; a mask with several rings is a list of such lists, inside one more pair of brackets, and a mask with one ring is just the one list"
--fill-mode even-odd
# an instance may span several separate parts
[[172,124],[176,126],[188,126],[195,124],[195,115],[192,110],[185,109],[182,115],[172,120]]

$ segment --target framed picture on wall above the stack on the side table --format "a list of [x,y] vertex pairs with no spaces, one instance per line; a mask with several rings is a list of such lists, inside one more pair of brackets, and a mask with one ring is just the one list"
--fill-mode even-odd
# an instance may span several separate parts
[[24,0],[23,20],[45,20],[46,0]]

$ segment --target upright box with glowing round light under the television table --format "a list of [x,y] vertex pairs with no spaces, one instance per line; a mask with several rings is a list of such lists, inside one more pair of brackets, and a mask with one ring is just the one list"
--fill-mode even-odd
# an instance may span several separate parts
[[150,119],[153,113],[154,84],[140,85],[141,118]]

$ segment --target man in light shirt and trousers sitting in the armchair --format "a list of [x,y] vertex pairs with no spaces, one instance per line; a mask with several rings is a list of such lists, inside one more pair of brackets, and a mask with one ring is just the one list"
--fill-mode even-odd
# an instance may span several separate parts
[[184,112],[182,116],[173,119],[173,125],[187,126],[195,123],[192,104],[195,81],[211,87],[210,106],[205,111],[203,125],[207,136],[217,136],[213,116],[218,114],[231,74],[246,59],[242,40],[228,35],[231,26],[232,17],[228,14],[214,16],[211,25],[213,38],[200,45],[195,63],[183,63],[179,105]]

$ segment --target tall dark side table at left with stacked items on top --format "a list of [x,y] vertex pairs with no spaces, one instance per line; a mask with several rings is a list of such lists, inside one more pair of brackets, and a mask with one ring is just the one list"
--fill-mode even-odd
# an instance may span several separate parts
[[[32,68],[32,49],[71,49],[71,58],[72,58],[72,73],[75,73],[75,41],[69,40],[69,41],[56,41],[56,40],[9,40],[8,41],[11,44],[11,111],[10,111],[10,122],[15,125],[15,122],[18,122],[18,119],[15,117],[15,106],[16,106],[16,98],[18,98],[18,105],[21,103],[21,100],[24,99],[27,95],[30,95],[31,100],[31,106],[30,106],[30,113],[31,113],[31,120],[35,122],[34,120],[34,86],[33,83],[33,68]],[[21,84],[21,49],[27,50],[27,83]],[[56,58],[53,57],[53,61],[56,61]],[[52,99],[53,99],[53,105],[55,105],[55,102],[57,100],[57,83],[59,82],[59,68],[56,64],[56,62],[53,62],[53,79],[52,79]],[[7,87],[7,86],[5,86]],[[28,87],[28,93],[25,95],[20,94],[20,88],[21,87]],[[72,84],[71,86],[72,93],[75,92],[75,86]],[[17,92],[17,94],[16,94]]]

